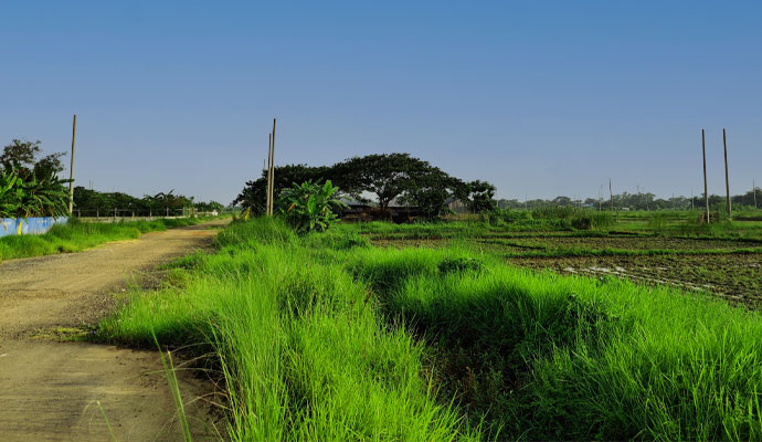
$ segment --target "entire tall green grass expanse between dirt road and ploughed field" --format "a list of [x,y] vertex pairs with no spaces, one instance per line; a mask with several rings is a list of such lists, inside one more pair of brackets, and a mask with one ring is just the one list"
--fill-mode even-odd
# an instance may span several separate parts
[[100,337],[201,345],[233,440],[762,439],[762,318],[465,249],[236,223]]

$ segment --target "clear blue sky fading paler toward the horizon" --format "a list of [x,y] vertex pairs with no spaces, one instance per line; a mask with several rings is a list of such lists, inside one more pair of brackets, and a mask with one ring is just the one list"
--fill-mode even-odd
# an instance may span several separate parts
[[762,186],[758,2],[0,3],[0,144],[78,185],[230,202],[277,164],[409,151],[501,198]]

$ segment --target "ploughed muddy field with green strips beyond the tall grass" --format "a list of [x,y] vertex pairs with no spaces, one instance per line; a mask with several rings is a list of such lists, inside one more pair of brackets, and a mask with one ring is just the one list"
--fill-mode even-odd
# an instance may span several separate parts
[[605,230],[593,231],[563,227],[531,231],[527,222],[523,228],[509,225],[510,231],[477,221],[419,231],[383,224],[360,229],[377,246],[458,246],[522,267],[620,276],[756,304],[762,297],[762,223],[702,227],[690,222],[692,215],[675,213],[667,219],[663,213],[631,213]]

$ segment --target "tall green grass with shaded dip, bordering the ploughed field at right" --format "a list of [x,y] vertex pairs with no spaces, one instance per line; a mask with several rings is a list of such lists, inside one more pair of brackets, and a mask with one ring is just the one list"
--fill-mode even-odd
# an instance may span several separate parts
[[443,267],[452,253],[442,250],[348,260],[390,320],[427,343],[445,398],[457,398],[486,434],[762,438],[759,314],[667,288],[470,259],[483,264]]

